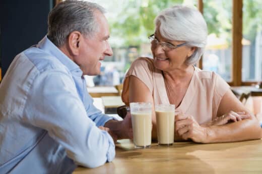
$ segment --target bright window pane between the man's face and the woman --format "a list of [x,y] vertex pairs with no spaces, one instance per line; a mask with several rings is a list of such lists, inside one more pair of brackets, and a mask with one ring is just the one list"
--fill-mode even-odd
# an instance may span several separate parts
[[[125,72],[137,57],[152,57],[148,36],[154,33],[154,18],[160,11],[175,4],[197,8],[198,3],[197,0],[91,0],[90,2],[100,4],[107,10],[105,16],[111,27],[109,42],[114,55],[105,58],[102,63],[101,74],[93,78],[95,85],[100,86],[122,83]],[[113,57],[118,58],[114,59]]]

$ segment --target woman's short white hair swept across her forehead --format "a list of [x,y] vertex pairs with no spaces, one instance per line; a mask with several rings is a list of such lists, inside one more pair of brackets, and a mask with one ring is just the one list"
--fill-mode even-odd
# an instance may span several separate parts
[[197,9],[174,6],[165,9],[155,19],[161,35],[169,40],[186,41],[188,46],[196,47],[186,60],[187,65],[197,63],[204,53],[208,29],[202,14]]

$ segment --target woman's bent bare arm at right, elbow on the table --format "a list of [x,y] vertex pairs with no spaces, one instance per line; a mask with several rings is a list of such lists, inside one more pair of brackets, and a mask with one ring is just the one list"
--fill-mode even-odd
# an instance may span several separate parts
[[239,141],[261,138],[261,127],[256,117],[244,107],[229,89],[222,97],[217,116],[222,116],[230,111],[244,111],[250,116],[246,119],[220,126],[208,128],[208,139],[210,142]]

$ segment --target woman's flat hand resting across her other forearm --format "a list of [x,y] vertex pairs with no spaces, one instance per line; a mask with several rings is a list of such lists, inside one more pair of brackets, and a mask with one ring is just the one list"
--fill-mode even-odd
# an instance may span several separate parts
[[250,118],[250,116],[251,116],[250,114],[244,111],[243,112],[230,111],[220,117],[217,117],[216,119],[212,120],[210,123],[206,124],[205,126],[223,125],[229,122],[237,122],[243,119]]

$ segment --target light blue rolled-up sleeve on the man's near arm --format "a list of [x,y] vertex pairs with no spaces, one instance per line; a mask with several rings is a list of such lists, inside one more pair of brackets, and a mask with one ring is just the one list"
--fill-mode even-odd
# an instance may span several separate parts
[[[100,117],[103,121],[99,124],[102,124],[107,118],[102,119],[101,114]],[[92,168],[111,161],[115,146],[112,137],[100,130],[91,118],[70,75],[53,70],[41,73],[34,80],[24,109],[24,121],[47,130],[70,158]]]

